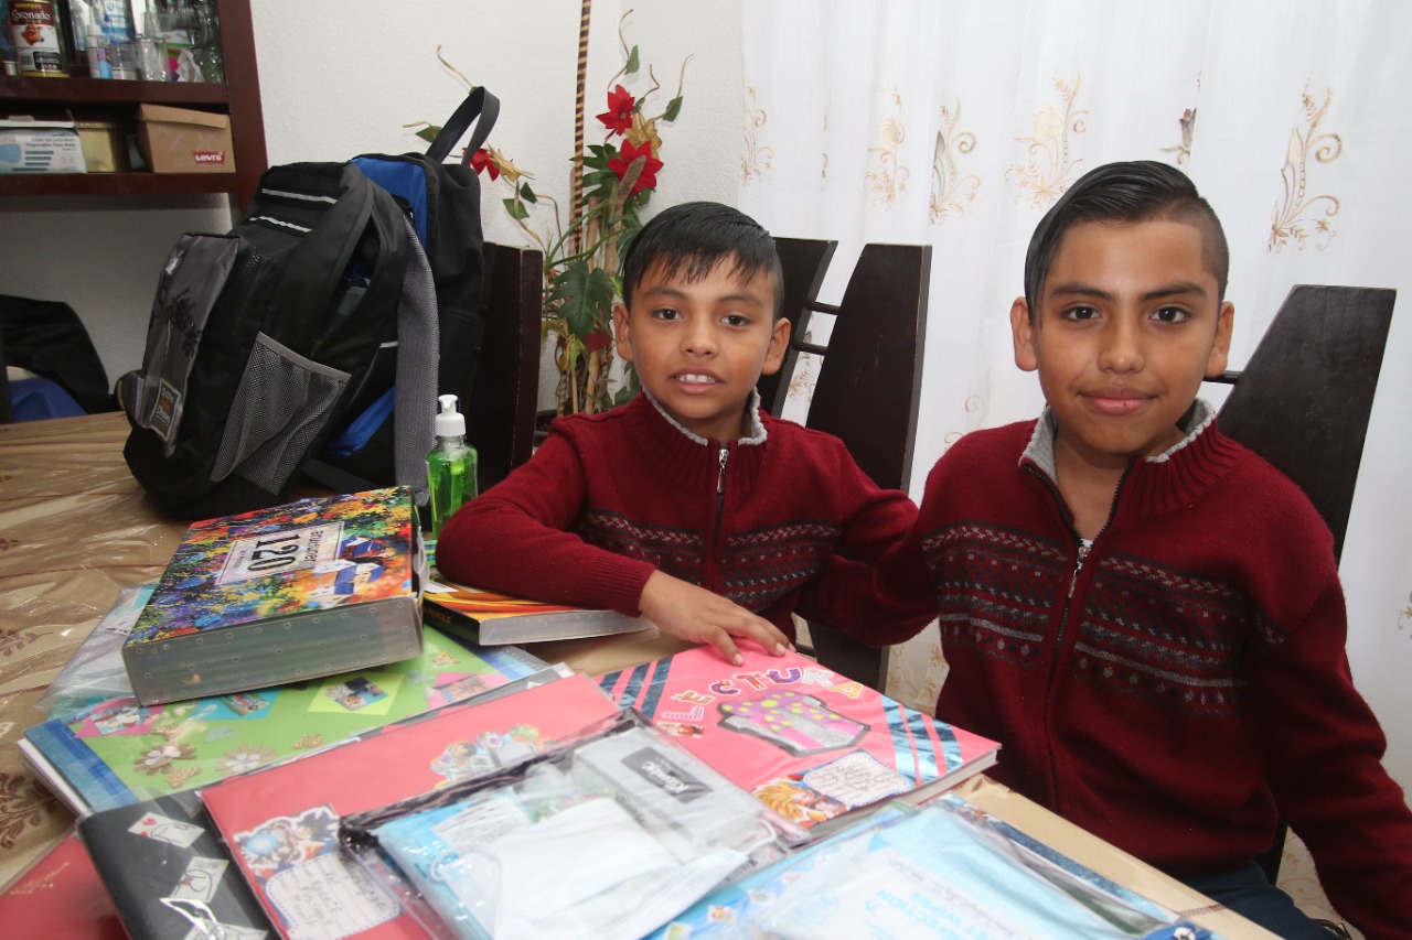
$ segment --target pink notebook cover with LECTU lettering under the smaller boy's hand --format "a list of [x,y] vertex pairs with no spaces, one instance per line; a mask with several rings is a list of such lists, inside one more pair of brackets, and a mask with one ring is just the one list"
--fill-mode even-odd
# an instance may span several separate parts
[[995,741],[806,656],[755,646],[741,653],[734,666],[698,646],[600,682],[618,704],[806,828],[892,797],[925,799],[995,762]]

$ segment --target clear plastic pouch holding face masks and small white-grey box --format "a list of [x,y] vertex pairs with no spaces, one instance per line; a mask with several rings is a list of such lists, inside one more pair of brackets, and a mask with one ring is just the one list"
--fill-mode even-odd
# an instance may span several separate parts
[[631,711],[510,773],[346,819],[340,840],[432,936],[501,940],[635,940],[784,854],[758,800]]

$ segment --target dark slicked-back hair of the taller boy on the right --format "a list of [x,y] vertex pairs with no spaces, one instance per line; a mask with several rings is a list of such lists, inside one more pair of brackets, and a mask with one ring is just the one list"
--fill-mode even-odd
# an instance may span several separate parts
[[1107,164],[1079,178],[1045,213],[1025,253],[1025,301],[1029,316],[1039,309],[1045,278],[1053,265],[1065,231],[1083,222],[1187,222],[1202,233],[1206,267],[1226,296],[1230,248],[1220,219],[1180,169],[1151,159]]

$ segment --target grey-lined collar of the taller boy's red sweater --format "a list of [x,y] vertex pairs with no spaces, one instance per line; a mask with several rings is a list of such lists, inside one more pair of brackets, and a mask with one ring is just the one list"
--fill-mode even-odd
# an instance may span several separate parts
[[[1197,398],[1178,426],[1185,432],[1180,440],[1162,453],[1134,460],[1128,466],[1120,498],[1138,515],[1156,515],[1192,505],[1216,487],[1236,462],[1238,445],[1220,433],[1216,409],[1206,399]],[[1019,457],[1021,464],[1031,464],[1056,487],[1058,430],[1058,418],[1045,408]]]

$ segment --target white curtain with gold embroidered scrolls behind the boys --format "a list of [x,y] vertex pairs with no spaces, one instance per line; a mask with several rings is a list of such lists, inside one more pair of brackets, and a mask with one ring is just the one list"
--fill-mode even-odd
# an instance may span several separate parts
[[[1231,244],[1231,367],[1295,284],[1398,288],[1343,555],[1354,679],[1412,790],[1412,4],[1399,0],[751,0],[740,206],[840,243],[929,243],[912,494],[960,435],[1038,414],[1011,357],[1035,223],[1114,159],[1185,169]],[[809,371],[794,382],[806,412]],[[1220,398],[1213,390],[1210,397]],[[1319,454],[1309,454],[1317,460]],[[890,692],[931,707],[935,627]]]

